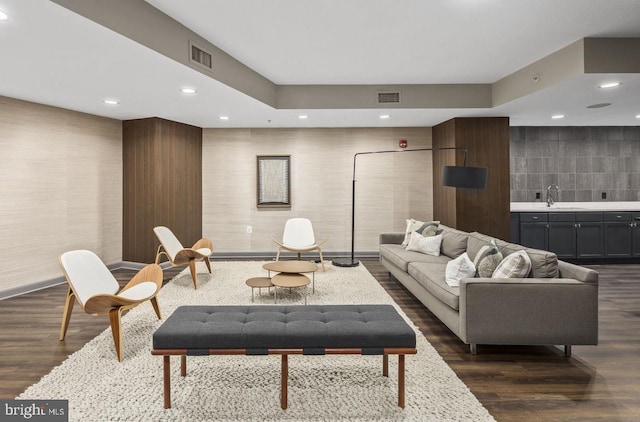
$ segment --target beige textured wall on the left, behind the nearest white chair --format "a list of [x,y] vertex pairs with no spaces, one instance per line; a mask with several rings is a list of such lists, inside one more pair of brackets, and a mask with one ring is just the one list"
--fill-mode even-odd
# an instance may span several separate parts
[[122,124],[0,97],[0,296],[61,276],[58,255],[122,257]]

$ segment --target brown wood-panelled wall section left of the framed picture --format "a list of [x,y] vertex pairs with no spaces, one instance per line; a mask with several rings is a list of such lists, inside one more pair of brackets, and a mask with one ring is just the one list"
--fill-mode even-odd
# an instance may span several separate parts
[[167,226],[189,247],[202,237],[202,128],[127,120],[123,137],[122,259],[150,263]]

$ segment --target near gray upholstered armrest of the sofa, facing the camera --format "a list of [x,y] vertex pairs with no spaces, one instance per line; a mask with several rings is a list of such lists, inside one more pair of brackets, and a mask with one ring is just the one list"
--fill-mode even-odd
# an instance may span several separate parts
[[565,278],[463,279],[460,334],[468,344],[597,344],[598,286]]

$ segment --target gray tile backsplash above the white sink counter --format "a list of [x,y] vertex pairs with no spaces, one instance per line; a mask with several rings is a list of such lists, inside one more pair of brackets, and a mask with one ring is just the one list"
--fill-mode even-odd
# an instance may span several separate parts
[[640,126],[515,126],[509,146],[512,202],[640,200]]

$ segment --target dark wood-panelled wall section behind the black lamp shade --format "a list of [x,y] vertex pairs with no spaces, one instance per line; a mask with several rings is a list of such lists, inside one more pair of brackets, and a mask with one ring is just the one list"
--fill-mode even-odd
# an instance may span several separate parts
[[432,129],[433,146],[467,149],[467,165],[488,167],[486,190],[441,185],[443,165],[463,164],[463,151],[433,155],[433,214],[447,226],[509,240],[509,118],[455,118]]

